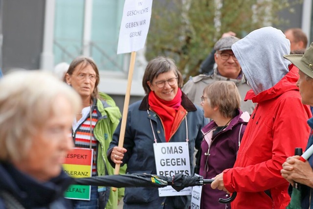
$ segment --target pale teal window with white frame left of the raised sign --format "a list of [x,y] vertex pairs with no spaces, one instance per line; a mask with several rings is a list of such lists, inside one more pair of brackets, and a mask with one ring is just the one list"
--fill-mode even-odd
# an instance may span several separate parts
[[92,57],[100,71],[125,71],[126,55],[116,54],[124,0],[55,2],[55,65],[83,54]]

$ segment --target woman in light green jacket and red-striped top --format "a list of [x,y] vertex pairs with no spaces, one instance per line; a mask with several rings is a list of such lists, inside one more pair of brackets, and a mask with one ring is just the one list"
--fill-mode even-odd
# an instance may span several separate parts
[[[114,168],[107,162],[107,149],[119,123],[121,113],[113,99],[98,93],[99,71],[88,57],[75,58],[68,67],[65,82],[82,98],[82,110],[72,124],[75,147],[93,150],[92,176],[113,175]],[[91,122],[90,122],[91,121]],[[121,174],[125,169],[121,169]],[[90,200],[73,200],[75,209],[117,209],[123,189],[113,192],[110,187],[91,186]]]

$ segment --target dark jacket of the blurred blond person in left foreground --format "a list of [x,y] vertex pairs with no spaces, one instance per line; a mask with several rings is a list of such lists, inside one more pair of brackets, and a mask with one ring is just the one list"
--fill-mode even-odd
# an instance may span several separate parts
[[48,182],[40,183],[17,170],[13,165],[0,163],[0,209],[70,209],[71,202],[63,197],[73,183],[63,171]]

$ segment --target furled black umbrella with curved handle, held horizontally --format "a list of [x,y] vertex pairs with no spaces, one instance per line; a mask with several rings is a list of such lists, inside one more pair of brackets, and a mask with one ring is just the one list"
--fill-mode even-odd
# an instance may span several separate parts
[[[189,186],[203,186],[211,184],[214,180],[203,179],[199,176],[187,176],[178,174],[173,177],[159,176],[154,174],[133,173],[124,175],[108,175],[108,176],[94,176],[89,178],[76,178],[77,185],[91,185],[91,186],[113,186],[113,187],[165,187],[172,186],[176,191],[180,191]],[[234,192],[227,199],[219,199],[220,203],[230,203],[236,197]]]

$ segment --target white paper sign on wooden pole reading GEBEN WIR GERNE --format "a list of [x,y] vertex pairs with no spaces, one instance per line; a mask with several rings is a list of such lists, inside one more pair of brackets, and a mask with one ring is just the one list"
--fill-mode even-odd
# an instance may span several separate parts
[[152,0],[125,0],[117,54],[145,46],[151,19]]

